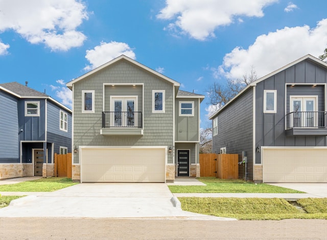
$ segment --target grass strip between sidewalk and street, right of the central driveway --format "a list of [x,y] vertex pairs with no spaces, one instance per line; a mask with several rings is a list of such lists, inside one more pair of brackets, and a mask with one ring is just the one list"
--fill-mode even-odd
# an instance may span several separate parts
[[[284,199],[267,198],[178,198],[181,208],[217,217],[238,220],[327,219],[327,208],[301,213]],[[325,204],[327,199],[303,199],[308,205]],[[300,201],[298,201],[298,204]],[[301,204],[300,204],[301,205]],[[320,204],[318,204],[320,205]],[[308,210],[307,210],[308,211]]]

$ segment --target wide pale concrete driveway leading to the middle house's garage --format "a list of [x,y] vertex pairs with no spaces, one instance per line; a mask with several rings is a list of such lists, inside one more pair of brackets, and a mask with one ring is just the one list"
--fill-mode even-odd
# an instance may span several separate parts
[[176,200],[165,183],[81,183],[14,200],[0,217],[235,220],[182,211]]

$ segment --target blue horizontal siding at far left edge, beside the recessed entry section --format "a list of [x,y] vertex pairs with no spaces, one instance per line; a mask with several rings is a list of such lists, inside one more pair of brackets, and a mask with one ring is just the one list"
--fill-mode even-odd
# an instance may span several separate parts
[[0,163],[19,162],[18,100],[0,91]]

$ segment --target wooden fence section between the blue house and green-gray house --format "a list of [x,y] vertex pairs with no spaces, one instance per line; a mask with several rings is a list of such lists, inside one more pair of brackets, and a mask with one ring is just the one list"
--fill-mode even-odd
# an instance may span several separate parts
[[54,175],[55,177],[72,178],[72,153],[55,153]]

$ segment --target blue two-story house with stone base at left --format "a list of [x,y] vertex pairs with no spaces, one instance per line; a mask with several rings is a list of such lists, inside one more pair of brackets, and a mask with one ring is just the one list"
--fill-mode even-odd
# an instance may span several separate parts
[[53,176],[54,153],[72,152],[72,110],[42,92],[0,84],[0,119],[0,179]]

